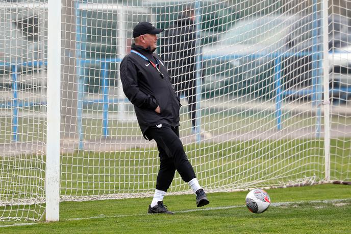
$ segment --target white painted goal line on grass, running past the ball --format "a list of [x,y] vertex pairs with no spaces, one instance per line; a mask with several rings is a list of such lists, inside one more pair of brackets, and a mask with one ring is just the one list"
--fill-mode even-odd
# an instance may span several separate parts
[[[291,205],[291,204],[303,204],[303,203],[335,203],[335,202],[344,202],[344,201],[351,201],[351,198],[348,199],[333,199],[333,200],[313,200],[313,201],[291,201],[291,202],[274,202],[271,203],[271,206],[273,207],[279,207],[279,206],[284,206],[284,205]],[[186,209],[186,210],[179,210],[177,212],[174,212],[175,214],[181,214],[181,213],[189,213],[189,212],[198,212],[198,211],[204,211],[204,210],[219,210],[219,209],[232,209],[232,208],[241,208],[241,207],[246,207],[246,205],[231,205],[231,206],[218,206],[218,207],[207,207],[207,208],[197,208],[197,209]],[[122,218],[122,217],[136,217],[136,216],[146,216],[146,215],[157,215],[157,214],[133,214],[133,215],[114,215],[114,216],[93,216],[93,217],[87,217],[87,218],[70,218],[70,219],[65,219],[61,221],[76,221],[76,220],[87,220],[87,219],[105,219],[105,218]],[[12,226],[24,226],[24,225],[34,225],[34,224],[42,224],[43,222],[38,222],[38,223],[18,223],[18,224],[12,224],[12,225],[3,225],[1,227],[12,227]]]

